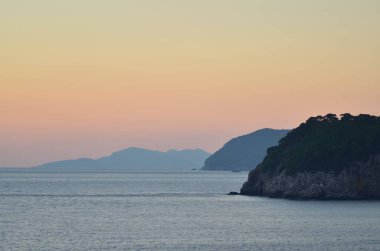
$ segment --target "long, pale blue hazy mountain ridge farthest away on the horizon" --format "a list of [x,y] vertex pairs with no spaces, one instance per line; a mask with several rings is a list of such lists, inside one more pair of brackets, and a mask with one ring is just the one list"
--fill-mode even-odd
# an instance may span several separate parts
[[199,168],[210,154],[201,150],[152,151],[127,148],[100,159],[81,158],[46,163],[39,169],[193,169]]

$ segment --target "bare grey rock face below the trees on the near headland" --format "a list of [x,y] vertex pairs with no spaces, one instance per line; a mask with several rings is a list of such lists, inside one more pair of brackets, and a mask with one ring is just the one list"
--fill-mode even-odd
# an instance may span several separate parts
[[[279,168],[280,169],[280,168]],[[268,173],[258,167],[249,173],[243,195],[299,199],[380,199],[380,154],[354,162],[338,173],[285,170]]]

